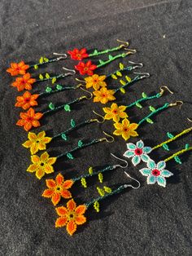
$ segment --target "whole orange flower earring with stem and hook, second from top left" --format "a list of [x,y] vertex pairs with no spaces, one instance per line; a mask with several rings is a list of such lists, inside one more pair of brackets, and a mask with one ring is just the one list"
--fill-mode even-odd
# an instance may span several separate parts
[[18,91],[32,90],[32,86],[34,83],[51,81],[54,84],[57,81],[57,79],[73,76],[76,73],[76,71],[73,69],[68,69],[68,68],[63,68],[63,69],[67,70],[68,73],[61,73],[53,77],[51,77],[49,73],[46,73],[45,76],[40,74],[39,79],[31,77],[30,73],[25,73],[23,77],[17,77],[15,79],[15,82],[12,82],[11,86],[16,87]]

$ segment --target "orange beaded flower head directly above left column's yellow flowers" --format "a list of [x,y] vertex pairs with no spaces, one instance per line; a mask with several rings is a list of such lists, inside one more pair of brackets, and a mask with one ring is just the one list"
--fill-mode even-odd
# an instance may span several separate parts
[[20,120],[17,121],[17,126],[24,126],[24,130],[28,131],[31,128],[41,126],[38,121],[43,116],[42,113],[35,113],[33,108],[29,108],[27,113],[20,113]]

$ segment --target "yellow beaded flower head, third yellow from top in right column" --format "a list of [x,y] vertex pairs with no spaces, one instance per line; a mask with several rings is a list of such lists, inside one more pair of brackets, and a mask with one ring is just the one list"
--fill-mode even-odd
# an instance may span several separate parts
[[118,105],[116,103],[111,104],[111,108],[103,108],[104,113],[106,113],[105,115],[105,119],[110,120],[113,119],[113,121],[120,121],[120,118],[125,118],[128,117],[128,115],[124,112],[124,110],[126,109],[126,106],[120,106],[118,107]]

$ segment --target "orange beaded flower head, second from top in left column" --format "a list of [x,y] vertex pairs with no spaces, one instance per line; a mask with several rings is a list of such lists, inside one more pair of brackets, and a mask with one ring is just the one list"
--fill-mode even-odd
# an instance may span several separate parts
[[30,73],[24,74],[23,77],[16,77],[15,82],[12,82],[12,86],[17,87],[17,90],[32,90],[33,83],[36,82],[35,78],[32,78]]

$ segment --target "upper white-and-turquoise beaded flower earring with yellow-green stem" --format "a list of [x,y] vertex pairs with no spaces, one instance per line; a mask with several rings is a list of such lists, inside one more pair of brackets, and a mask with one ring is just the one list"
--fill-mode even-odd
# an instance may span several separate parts
[[[172,143],[172,141],[180,138],[182,135],[186,135],[187,133],[190,133],[191,130],[192,130],[192,127],[181,131],[181,133],[175,136],[168,132],[167,135],[169,139],[165,140],[163,143],[159,143],[153,148],[149,146],[145,146],[142,140],[137,141],[136,144],[127,143],[128,150],[124,152],[124,157],[132,158],[133,166],[137,166],[141,161],[147,162],[150,159],[148,154],[150,154],[152,151],[161,147],[169,151],[168,143]],[[181,160],[178,157],[175,157],[175,160],[178,163],[181,163]]]

